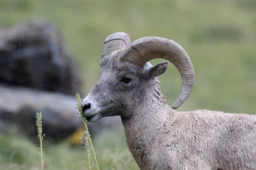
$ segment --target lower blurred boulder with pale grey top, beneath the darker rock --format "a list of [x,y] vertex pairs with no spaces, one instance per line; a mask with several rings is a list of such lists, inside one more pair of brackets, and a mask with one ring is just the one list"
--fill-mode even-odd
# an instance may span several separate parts
[[[84,124],[77,114],[76,96],[0,85],[0,133],[21,134],[37,139],[36,113],[42,113],[45,139],[61,141]],[[91,134],[121,127],[119,116],[88,124]]]

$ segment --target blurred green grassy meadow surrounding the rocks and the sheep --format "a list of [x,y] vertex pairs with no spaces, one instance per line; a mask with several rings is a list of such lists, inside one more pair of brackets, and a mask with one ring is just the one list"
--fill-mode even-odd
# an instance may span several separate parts
[[[0,0],[0,26],[42,19],[61,28],[83,75],[85,94],[99,79],[105,38],[122,31],[132,41],[172,39],[187,51],[195,85],[177,111],[256,114],[255,0]],[[171,106],[181,89],[177,69],[170,64],[160,81]],[[100,169],[139,170],[122,129],[102,131],[93,144]],[[37,147],[19,136],[0,135],[0,169],[39,170]],[[44,153],[46,170],[86,169],[85,149],[68,141],[44,142]]]

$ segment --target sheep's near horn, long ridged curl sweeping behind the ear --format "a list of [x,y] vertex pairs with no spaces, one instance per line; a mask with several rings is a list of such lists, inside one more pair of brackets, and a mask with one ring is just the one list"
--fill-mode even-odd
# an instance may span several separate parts
[[119,54],[122,61],[133,62],[144,66],[151,59],[167,59],[178,69],[182,78],[180,95],[172,105],[173,109],[180,107],[192,91],[195,73],[192,62],[186,51],[175,41],[161,37],[143,37],[132,42]]

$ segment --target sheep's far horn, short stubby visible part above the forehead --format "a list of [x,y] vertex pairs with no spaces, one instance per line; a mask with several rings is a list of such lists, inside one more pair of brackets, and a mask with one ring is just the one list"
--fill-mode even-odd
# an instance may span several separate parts
[[113,51],[126,48],[131,44],[131,38],[124,32],[116,32],[109,35],[104,41],[102,58],[111,54]]

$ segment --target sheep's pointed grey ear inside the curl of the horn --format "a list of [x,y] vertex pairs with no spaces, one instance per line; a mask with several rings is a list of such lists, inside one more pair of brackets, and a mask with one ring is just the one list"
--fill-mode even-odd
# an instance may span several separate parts
[[166,72],[169,65],[169,61],[160,62],[157,65],[152,66],[151,68],[148,68],[148,70],[145,73],[146,79],[152,79],[154,77],[158,77],[162,75],[164,72]]

